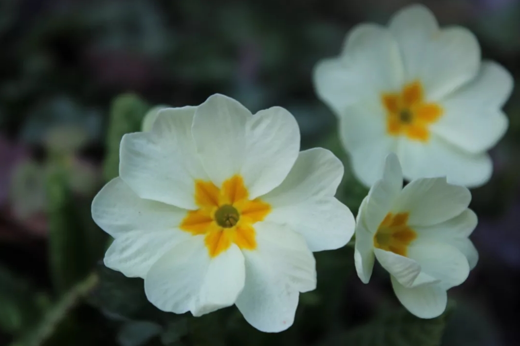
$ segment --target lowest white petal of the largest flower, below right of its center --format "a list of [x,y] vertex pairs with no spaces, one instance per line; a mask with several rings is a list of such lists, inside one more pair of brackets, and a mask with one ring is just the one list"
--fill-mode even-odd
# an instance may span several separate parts
[[294,322],[299,292],[316,288],[313,254],[305,240],[285,227],[255,224],[255,251],[244,251],[245,286],[236,305],[253,327],[278,332]]

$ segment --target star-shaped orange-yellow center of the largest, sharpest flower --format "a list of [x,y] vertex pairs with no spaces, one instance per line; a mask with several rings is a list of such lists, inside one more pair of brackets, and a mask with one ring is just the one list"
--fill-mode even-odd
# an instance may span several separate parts
[[194,236],[204,234],[211,257],[226,251],[233,243],[243,250],[254,250],[253,224],[271,211],[270,205],[261,199],[249,199],[240,175],[227,179],[220,188],[212,182],[196,181],[195,202],[199,209],[188,212],[180,229]]

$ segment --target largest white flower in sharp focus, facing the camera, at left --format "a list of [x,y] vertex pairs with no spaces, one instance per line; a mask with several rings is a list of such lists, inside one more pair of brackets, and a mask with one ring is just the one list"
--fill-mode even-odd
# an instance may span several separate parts
[[287,110],[252,115],[213,95],[166,108],[150,132],[121,141],[120,176],[92,204],[115,238],[105,264],[145,279],[159,309],[195,316],[235,304],[259,330],[292,325],[300,292],[316,287],[311,251],[339,248],[354,217],[334,198],[342,163],[300,153]]

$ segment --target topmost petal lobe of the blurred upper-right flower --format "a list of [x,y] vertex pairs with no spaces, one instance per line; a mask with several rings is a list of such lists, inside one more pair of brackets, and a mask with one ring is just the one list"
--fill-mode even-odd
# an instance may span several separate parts
[[410,5],[397,11],[389,23],[396,38],[405,68],[405,79],[421,74],[423,49],[439,30],[432,11],[423,5]]

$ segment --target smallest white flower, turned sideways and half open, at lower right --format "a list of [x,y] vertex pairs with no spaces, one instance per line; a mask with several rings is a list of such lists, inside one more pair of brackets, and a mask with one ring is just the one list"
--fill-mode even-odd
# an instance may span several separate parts
[[467,209],[470,191],[445,178],[422,178],[402,188],[395,154],[383,178],[361,203],[356,225],[356,270],[363,283],[374,258],[391,275],[399,301],[425,319],[446,309],[446,291],[463,283],[478,253],[468,236],[477,217]]

